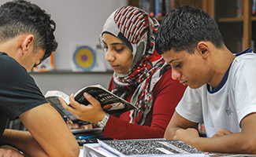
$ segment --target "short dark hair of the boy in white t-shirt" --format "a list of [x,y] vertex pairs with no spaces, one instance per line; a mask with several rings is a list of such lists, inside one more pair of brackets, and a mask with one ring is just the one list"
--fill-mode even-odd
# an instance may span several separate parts
[[224,46],[216,21],[202,9],[184,5],[173,9],[162,20],[155,48],[159,54],[171,49],[194,53],[200,41],[212,42],[217,48]]

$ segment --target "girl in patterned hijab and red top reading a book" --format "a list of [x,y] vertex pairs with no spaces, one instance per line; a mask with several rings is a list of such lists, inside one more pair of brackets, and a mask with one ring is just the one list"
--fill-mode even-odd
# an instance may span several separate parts
[[113,68],[109,91],[135,104],[138,110],[115,117],[106,114],[100,104],[87,93],[91,102],[84,106],[70,97],[64,108],[78,119],[94,122],[104,128],[102,135],[114,139],[164,137],[176,105],[186,86],[172,79],[169,64],[154,50],[158,21],[145,11],[125,6],[106,20],[99,41],[106,60]]

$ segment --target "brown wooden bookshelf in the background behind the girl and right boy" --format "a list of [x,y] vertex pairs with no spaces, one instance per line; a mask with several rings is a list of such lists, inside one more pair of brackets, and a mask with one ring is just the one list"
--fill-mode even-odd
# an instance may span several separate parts
[[[209,13],[219,25],[225,45],[232,53],[239,53],[249,47],[255,47],[256,16],[252,16],[254,0],[170,0],[174,8],[181,5],[193,5]],[[240,4],[241,9],[238,9]],[[128,5],[139,7],[139,0],[128,0]],[[238,11],[241,11],[240,16]],[[159,22],[163,17],[157,18]]]

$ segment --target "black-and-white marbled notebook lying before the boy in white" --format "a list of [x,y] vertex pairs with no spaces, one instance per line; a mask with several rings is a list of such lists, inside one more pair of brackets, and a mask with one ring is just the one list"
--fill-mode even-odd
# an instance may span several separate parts
[[205,156],[204,152],[192,148],[183,141],[169,141],[163,138],[119,141],[98,140],[98,144],[117,156]]

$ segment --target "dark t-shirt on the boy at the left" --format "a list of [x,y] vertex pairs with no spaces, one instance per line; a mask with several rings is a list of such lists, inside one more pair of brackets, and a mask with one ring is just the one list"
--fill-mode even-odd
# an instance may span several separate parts
[[0,52],[0,141],[7,119],[47,103],[34,79],[16,60]]

